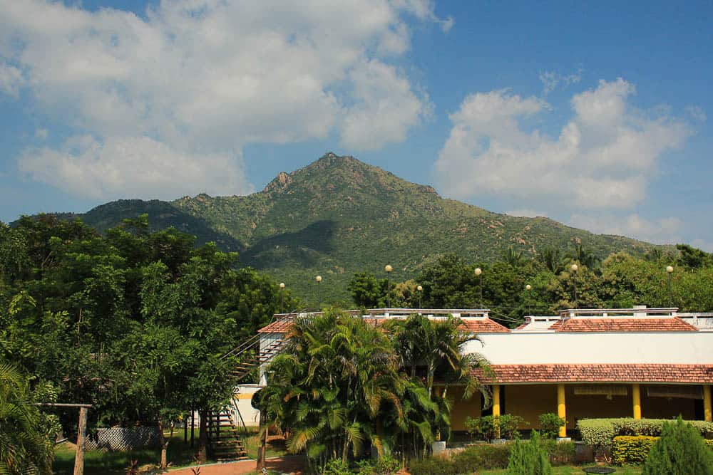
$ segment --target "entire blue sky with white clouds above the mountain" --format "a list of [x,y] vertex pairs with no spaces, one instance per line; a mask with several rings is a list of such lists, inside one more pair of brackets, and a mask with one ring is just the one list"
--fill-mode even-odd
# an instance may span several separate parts
[[0,0],[0,220],[246,194],[327,151],[713,251],[708,2]]

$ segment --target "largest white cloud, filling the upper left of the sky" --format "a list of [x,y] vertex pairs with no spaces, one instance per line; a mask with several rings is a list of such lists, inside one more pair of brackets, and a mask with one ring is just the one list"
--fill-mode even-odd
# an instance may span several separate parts
[[[0,92],[26,88],[39,110],[75,135],[38,157],[27,150],[20,160],[30,164],[19,165],[61,186],[73,179],[62,175],[69,173],[64,158],[84,135],[105,150],[96,160],[108,160],[106,149],[117,142],[146,141],[191,164],[240,156],[250,143],[319,140],[332,132],[352,149],[399,142],[430,107],[395,66],[410,47],[409,21],[451,23],[436,17],[430,0],[177,0],[160,2],[145,19],[0,0]],[[59,174],[37,171],[35,159],[58,161]],[[228,175],[242,177],[239,161],[222,163]],[[113,169],[126,182],[142,172]],[[113,189],[111,180],[95,178],[98,190]],[[157,179],[155,186],[183,194],[183,183]]]

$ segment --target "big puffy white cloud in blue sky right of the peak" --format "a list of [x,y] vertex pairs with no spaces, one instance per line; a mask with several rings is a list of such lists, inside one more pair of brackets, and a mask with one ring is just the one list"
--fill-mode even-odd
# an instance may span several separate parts
[[574,95],[573,117],[554,138],[521,124],[549,108],[543,100],[507,90],[468,95],[450,116],[437,179],[461,199],[491,195],[534,209],[635,207],[662,155],[691,131],[677,118],[630,107],[634,92],[620,78]]

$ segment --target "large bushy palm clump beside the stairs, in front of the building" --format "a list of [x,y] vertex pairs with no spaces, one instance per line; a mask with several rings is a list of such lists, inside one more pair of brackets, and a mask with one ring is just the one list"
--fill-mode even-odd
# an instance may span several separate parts
[[320,467],[329,459],[346,462],[366,440],[388,445],[384,421],[404,425],[406,378],[398,370],[378,328],[332,310],[294,323],[255,404],[289,434],[292,453],[304,452]]

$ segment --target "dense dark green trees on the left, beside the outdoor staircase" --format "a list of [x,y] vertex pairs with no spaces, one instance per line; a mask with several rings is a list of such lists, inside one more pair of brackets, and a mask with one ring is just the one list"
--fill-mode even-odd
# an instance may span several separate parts
[[[0,223],[0,362],[35,392],[93,404],[90,427],[166,427],[230,398],[235,360],[223,355],[297,305],[280,292],[237,254],[150,232],[145,215],[103,235],[24,217]],[[76,412],[58,415],[76,431]]]

